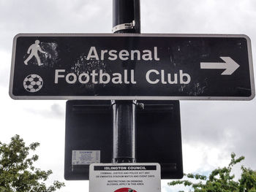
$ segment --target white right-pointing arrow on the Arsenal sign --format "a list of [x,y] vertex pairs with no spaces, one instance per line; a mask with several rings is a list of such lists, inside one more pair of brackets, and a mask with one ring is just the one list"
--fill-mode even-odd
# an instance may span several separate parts
[[230,75],[238,69],[240,65],[230,57],[220,57],[225,63],[200,63],[201,69],[226,69],[222,75]]

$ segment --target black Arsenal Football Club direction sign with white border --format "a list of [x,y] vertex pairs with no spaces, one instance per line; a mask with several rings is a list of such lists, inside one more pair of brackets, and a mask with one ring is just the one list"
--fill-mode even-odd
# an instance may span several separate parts
[[255,97],[245,35],[18,34],[12,99]]

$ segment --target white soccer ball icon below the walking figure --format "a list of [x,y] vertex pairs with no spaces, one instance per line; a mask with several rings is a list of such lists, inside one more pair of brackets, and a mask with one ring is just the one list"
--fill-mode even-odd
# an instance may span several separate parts
[[26,91],[30,93],[35,93],[42,88],[42,77],[38,74],[29,74],[23,81],[23,86]]

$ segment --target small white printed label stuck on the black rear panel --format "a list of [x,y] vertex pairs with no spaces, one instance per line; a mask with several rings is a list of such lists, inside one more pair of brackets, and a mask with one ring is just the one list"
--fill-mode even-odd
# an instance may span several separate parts
[[100,150],[73,150],[72,165],[100,163]]

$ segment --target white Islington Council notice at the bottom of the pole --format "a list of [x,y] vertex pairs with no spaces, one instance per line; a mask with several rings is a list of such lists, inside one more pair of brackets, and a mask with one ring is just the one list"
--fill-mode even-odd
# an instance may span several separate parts
[[91,164],[89,192],[160,192],[159,164]]

